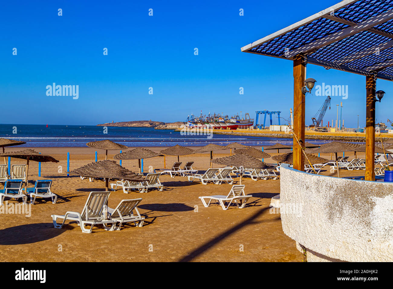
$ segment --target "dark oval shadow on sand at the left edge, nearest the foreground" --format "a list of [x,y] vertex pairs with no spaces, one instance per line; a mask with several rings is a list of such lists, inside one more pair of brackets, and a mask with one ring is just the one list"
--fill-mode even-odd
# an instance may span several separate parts
[[57,229],[53,223],[26,224],[0,230],[0,245],[22,245],[52,239],[64,230]]

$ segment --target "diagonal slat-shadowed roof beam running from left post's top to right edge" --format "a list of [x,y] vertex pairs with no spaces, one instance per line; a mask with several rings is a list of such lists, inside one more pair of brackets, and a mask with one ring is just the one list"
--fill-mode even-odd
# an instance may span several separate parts
[[327,35],[325,37],[322,37],[321,39],[315,40],[315,41],[310,42],[306,45],[303,45],[299,48],[296,48],[295,50],[292,50],[292,51],[286,53],[286,57],[292,58],[295,55],[298,55],[299,53],[307,54],[310,51],[317,50],[321,47],[324,47],[324,46],[327,46],[327,45],[332,44],[334,42],[337,42],[339,40],[345,39],[351,35],[361,32],[361,31],[373,28],[374,26],[385,23],[391,19],[393,19],[393,9],[388,10],[384,13],[381,13],[375,17],[371,17],[367,20],[364,20],[364,21],[360,22],[359,24],[347,27],[345,29],[342,29],[342,30],[336,32],[336,33],[333,33],[331,35]]

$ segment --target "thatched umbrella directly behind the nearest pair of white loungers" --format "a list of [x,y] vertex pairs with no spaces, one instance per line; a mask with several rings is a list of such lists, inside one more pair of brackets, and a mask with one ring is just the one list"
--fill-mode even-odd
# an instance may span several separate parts
[[100,160],[99,162],[92,162],[81,168],[74,169],[70,173],[88,178],[104,178],[106,191],[109,189],[109,179],[123,179],[130,180],[132,182],[146,181],[146,179],[142,176],[120,166],[114,160]]

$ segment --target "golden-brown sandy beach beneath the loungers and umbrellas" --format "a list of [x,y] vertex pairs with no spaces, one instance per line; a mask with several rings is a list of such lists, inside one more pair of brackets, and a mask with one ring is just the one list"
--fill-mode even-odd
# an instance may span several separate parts
[[[79,176],[66,177],[66,153],[70,152],[72,170],[94,161],[94,149],[35,149],[60,162],[42,163],[42,177],[38,177],[38,163],[31,162],[29,186],[33,186],[37,179],[52,179],[52,191],[59,198],[56,204],[37,199],[31,207],[31,217],[21,214],[1,216],[3,261],[303,261],[295,241],[283,233],[280,215],[270,214],[270,199],[279,193],[279,180],[243,178],[246,193],[252,195],[248,206],[224,211],[219,205],[205,208],[198,197],[227,195],[231,185],[202,185],[189,182],[185,177],[162,175],[163,191],[124,194],[117,190],[110,194],[111,208],[122,199],[143,199],[138,206],[145,217],[142,228],[125,225],[120,231],[107,232],[100,226],[93,230],[93,234],[84,234],[75,223],[67,223],[62,229],[56,229],[51,214],[80,212],[89,192],[103,190],[104,182],[89,182]],[[158,152],[163,147],[149,149]],[[7,151],[12,149],[6,148]],[[98,153],[99,160],[105,158],[105,152]],[[115,153],[110,151],[108,159],[113,159]],[[228,155],[229,150],[213,153],[213,157]],[[324,157],[330,159],[330,155]],[[177,156],[167,156],[167,167],[175,160]],[[194,161],[193,167],[201,171],[209,167],[208,153],[180,156],[180,161],[186,160]],[[271,158],[264,161],[274,162]],[[11,159],[11,164],[24,164],[24,160]],[[59,173],[59,166],[62,173]],[[138,161],[123,161],[123,166],[137,171]],[[163,168],[163,157],[145,159],[145,172],[149,166]],[[213,164],[213,167],[219,165]],[[326,167],[323,175],[335,175],[329,169]],[[364,175],[364,171],[340,170],[342,176],[362,173]],[[234,183],[238,182],[239,178],[235,178]],[[8,202],[17,203],[14,200]]]

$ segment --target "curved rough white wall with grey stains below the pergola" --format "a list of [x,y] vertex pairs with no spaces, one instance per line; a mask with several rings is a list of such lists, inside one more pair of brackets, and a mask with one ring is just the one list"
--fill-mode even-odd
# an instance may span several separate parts
[[393,183],[288,166],[280,175],[283,231],[307,248],[309,261],[393,261]]

